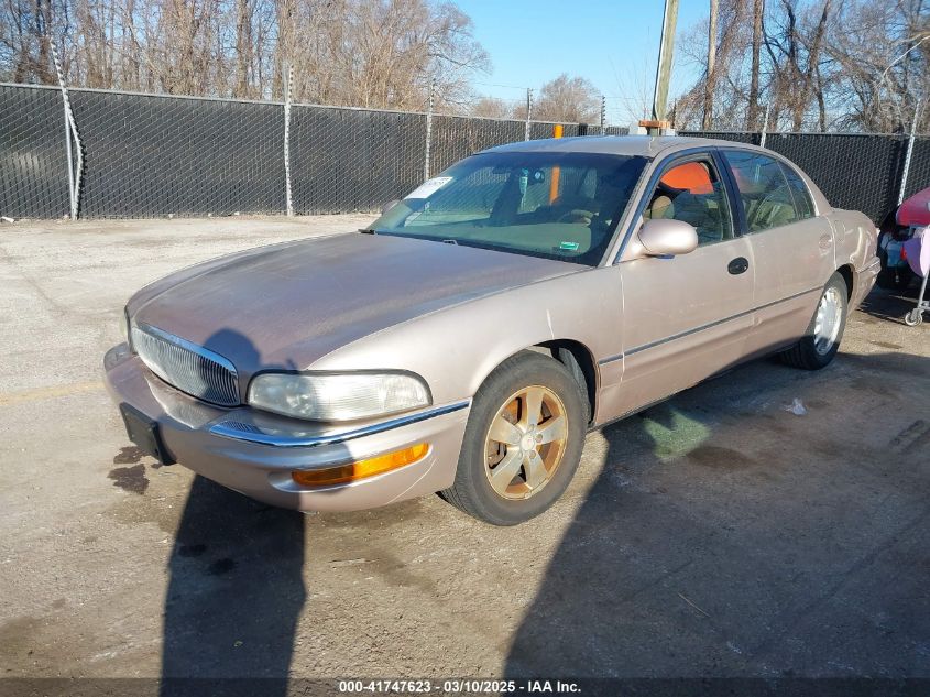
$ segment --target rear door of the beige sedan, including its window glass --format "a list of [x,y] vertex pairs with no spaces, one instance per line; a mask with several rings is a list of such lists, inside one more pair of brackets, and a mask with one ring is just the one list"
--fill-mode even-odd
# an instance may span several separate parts
[[746,351],[763,355],[803,336],[833,273],[833,228],[818,217],[807,185],[759,152],[723,149],[755,260],[755,326]]

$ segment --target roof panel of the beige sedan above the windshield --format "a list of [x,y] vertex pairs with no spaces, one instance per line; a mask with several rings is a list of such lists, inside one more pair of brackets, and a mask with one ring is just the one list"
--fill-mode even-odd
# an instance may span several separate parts
[[639,155],[652,159],[659,153],[710,146],[763,151],[762,148],[756,145],[736,141],[688,135],[576,135],[519,141],[489,148],[482,152],[589,152],[609,155]]

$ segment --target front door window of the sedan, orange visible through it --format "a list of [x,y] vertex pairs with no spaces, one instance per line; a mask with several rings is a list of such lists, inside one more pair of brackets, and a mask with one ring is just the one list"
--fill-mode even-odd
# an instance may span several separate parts
[[710,157],[689,160],[667,170],[643,216],[683,220],[698,230],[700,244],[733,237],[726,189]]

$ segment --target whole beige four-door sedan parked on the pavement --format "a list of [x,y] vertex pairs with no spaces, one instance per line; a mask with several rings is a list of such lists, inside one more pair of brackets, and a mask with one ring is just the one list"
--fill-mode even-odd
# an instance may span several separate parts
[[875,248],[766,150],[515,143],[359,233],[143,288],[107,383],[145,451],[262,501],[439,492],[510,525],[561,495],[587,431],[755,357],[830,363]]

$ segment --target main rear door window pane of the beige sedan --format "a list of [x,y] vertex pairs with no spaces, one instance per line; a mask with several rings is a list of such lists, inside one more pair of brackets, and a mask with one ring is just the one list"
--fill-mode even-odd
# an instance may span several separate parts
[[777,160],[736,150],[724,150],[723,156],[733,170],[750,232],[761,232],[810,217],[810,214],[800,215],[797,209],[791,187]]

